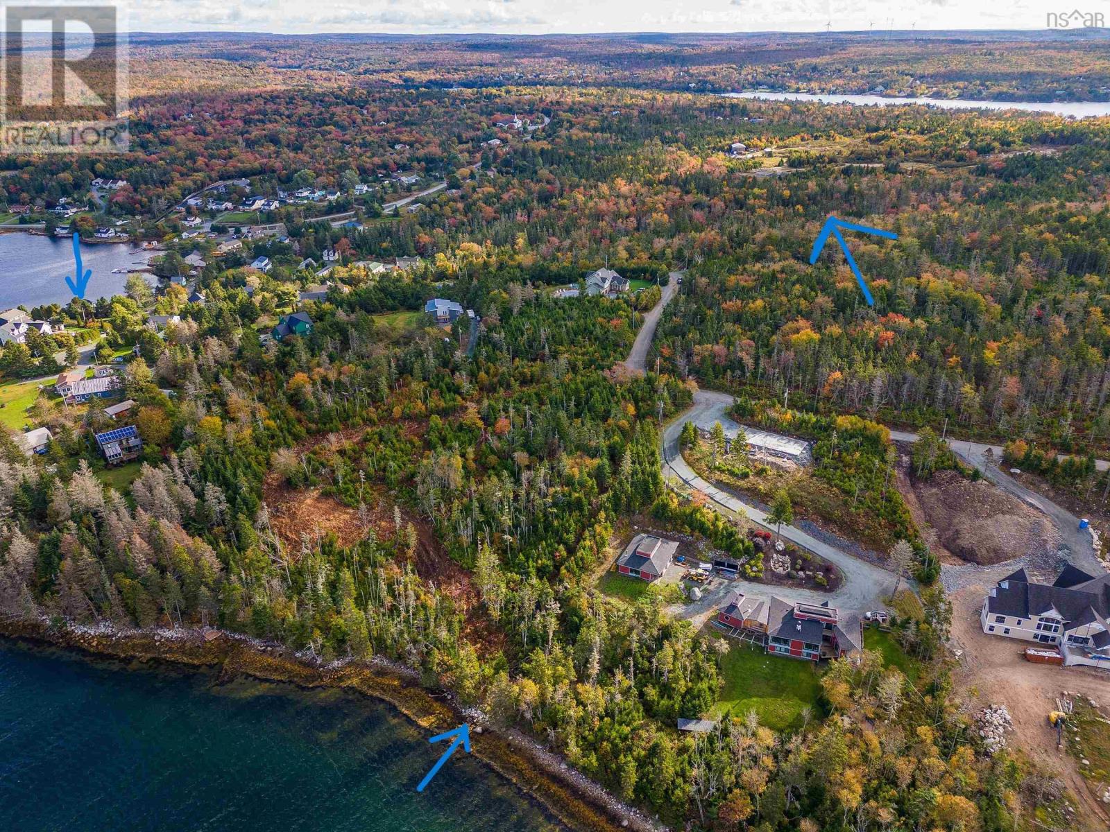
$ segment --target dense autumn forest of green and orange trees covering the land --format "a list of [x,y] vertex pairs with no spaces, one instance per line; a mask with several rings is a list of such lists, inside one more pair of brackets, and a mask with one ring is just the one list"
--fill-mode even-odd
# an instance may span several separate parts
[[[421,55],[466,49],[430,43]],[[1091,63],[1083,83],[1100,83],[1104,53],[1089,45],[1067,49]],[[0,613],[219,626],[325,661],[387,656],[676,826],[1001,832],[1048,816],[1061,790],[975,735],[944,657],[939,586],[896,621],[891,653],[833,662],[818,706],[788,728],[751,712],[690,734],[675,721],[719,699],[727,645],[658,596],[598,591],[597,574],[618,526],[652,517],[760,577],[751,544],[660,475],[660,424],[696,385],[813,438],[817,475],[855,493],[876,535],[919,549],[887,487],[882,424],[947,419],[1020,438],[1008,453],[1030,460],[1032,443],[1108,447],[1107,120],[740,101],[686,90],[663,58],[644,71],[682,91],[608,73],[604,85],[404,87],[404,69],[356,72],[342,44],[313,58],[326,83],[306,88],[275,68],[299,48],[271,43],[263,59],[219,39],[140,43],[167,63],[139,84],[130,153],[3,160],[9,206],[94,202],[94,177],[127,180],[84,225],[119,220],[160,243],[165,275],[196,252],[204,297],[139,281],[127,296],[34,311],[102,337],[105,357],[128,353],[143,457],[130,481],[113,479],[91,438],[110,424],[101,408],[46,395],[30,410],[54,436],[44,457],[0,436]],[[850,51],[841,59],[866,65]],[[836,71],[829,55],[805,59],[799,83]],[[223,71],[194,91],[159,85],[212,62]],[[474,81],[471,65],[458,72]],[[936,72],[927,85],[951,89]],[[1007,82],[1015,93],[1041,89],[1029,73],[1031,85]],[[513,114],[535,129],[505,126]],[[733,142],[755,152],[730,155]],[[383,215],[400,171],[444,187]],[[356,222],[285,204],[262,217],[282,234],[240,235],[236,250],[182,237],[204,210],[175,206],[238,179],[249,185],[232,186],[236,199],[335,189],[327,210]],[[360,183],[379,192],[359,199]],[[874,308],[839,255],[808,265],[833,213],[898,233],[851,241]],[[325,252],[332,285],[301,302]],[[272,268],[248,265],[260,256]],[[603,265],[640,293],[553,292]],[[649,369],[622,372],[673,270],[686,276]],[[436,296],[480,323],[431,325],[421,311]],[[294,306],[311,332],[270,337]],[[149,312],[181,319],[157,334]],[[53,349],[75,346],[7,345],[0,372],[57,372]],[[310,497],[350,524],[291,529],[281,510]]]

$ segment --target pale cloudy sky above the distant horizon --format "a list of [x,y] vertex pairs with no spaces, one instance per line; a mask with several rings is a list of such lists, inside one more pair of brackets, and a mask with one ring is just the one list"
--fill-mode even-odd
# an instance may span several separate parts
[[[1069,0],[1070,1],[1070,0]],[[1079,0],[1098,10],[1107,0]],[[1071,7],[1068,7],[1070,9]],[[1042,29],[1049,0],[137,0],[135,31],[556,32]]]

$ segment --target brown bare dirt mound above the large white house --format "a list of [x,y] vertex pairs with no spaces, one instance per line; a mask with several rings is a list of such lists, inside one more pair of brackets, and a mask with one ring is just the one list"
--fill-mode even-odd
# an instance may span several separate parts
[[940,544],[972,564],[999,564],[1056,551],[1059,538],[1040,511],[980,479],[938,471],[928,480],[909,478],[916,501]]

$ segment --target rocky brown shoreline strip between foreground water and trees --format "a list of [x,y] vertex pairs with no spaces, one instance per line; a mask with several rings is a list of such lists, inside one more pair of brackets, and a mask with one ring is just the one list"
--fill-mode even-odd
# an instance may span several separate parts
[[434,733],[467,721],[478,737],[473,753],[538,801],[576,832],[666,832],[660,822],[629,806],[526,734],[490,726],[476,709],[462,709],[450,694],[433,696],[418,673],[375,657],[323,663],[312,657],[223,630],[121,630],[110,626],[56,627],[47,621],[0,620],[0,636],[28,639],[92,656],[218,667],[221,679],[248,676],[301,688],[344,688],[389,702]]

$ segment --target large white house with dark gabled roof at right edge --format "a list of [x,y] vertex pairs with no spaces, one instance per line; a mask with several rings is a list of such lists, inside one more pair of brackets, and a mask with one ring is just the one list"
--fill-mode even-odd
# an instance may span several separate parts
[[983,599],[979,623],[988,635],[1053,645],[1064,664],[1110,669],[1110,575],[1068,565],[1050,586],[1018,569]]

